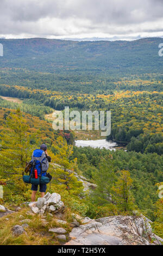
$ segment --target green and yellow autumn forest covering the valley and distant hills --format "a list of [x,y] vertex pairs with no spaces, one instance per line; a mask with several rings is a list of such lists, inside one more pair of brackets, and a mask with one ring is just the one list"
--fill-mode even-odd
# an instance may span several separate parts
[[[5,183],[0,202],[30,201],[22,171],[32,151],[45,143],[52,157],[48,189],[61,194],[67,212],[100,218],[136,211],[163,237],[160,42],[0,39],[5,53],[0,59],[0,180]],[[111,134],[102,139],[123,144],[126,151],[76,147],[76,133],[54,130],[46,118],[65,106],[110,110]],[[96,188],[86,193],[77,175]]]

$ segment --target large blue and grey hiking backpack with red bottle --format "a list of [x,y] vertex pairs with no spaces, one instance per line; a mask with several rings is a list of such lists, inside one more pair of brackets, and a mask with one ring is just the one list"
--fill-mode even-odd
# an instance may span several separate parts
[[[32,154],[32,160],[27,164],[27,166],[26,168],[29,171],[29,176],[23,175],[23,181],[25,183],[46,184],[50,181],[50,178],[46,177],[46,171],[48,170],[49,162],[43,150],[34,150]],[[35,171],[37,173],[37,178],[35,178]]]

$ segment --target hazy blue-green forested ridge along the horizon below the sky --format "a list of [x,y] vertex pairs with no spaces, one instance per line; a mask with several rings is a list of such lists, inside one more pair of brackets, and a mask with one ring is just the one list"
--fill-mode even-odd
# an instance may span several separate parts
[[161,73],[161,38],[135,41],[69,41],[58,39],[0,39],[1,68],[26,68],[56,74]]

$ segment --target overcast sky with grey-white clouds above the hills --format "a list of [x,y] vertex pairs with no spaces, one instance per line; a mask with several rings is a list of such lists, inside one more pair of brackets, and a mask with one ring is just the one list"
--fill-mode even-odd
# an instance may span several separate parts
[[163,0],[0,0],[0,38],[163,37]]

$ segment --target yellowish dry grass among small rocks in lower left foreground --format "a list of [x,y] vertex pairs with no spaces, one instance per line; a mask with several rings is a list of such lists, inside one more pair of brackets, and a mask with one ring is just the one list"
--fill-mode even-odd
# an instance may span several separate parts
[[[60,241],[57,239],[57,234],[51,234],[48,232],[49,228],[62,227],[65,228],[68,234],[72,228],[69,224],[58,223],[55,217],[50,216],[48,213],[45,216],[29,215],[27,212],[29,207],[23,206],[19,212],[11,213],[10,215],[0,218],[0,245],[60,245]],[[23,216],[20,217],[20,216]],[[5,218],[8,218],[7,221]],[[41,218],[45,219],[47,224],[44,225]],[[70,213],[64,213],[65,221],[71,220]],[[30,219],[28,223],[29,227],[24,228],[25,232],[20,236],[14,236],[12,234],[12,227],[14,225],[22,225],[20,222],[22,219]]]

